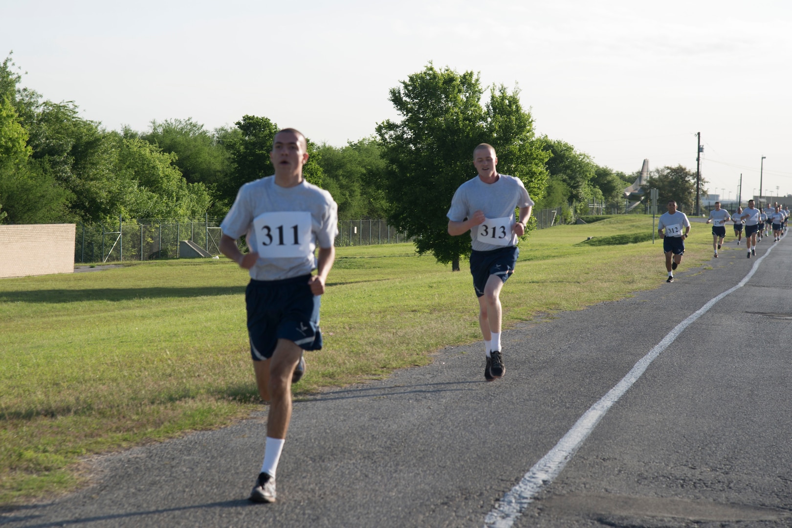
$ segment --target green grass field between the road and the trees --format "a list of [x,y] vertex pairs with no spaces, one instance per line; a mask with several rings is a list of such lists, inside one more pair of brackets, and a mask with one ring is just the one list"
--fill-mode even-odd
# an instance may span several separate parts
[[[506,328],[664,285],[659,241],[581,243],[639,240],[651,222],[628,215],[532,234],[501,294]],[[680,271],[710,259],[709,233],[694,225]],[[325,348],[306,354],[298,397],[481,339],[465,264],[453,273],[406,244],[339,248],[322,298]],[[246,282],[226,259],[0,279],[0,505],[74,488],[87,454],[218,427],[261,408]]]

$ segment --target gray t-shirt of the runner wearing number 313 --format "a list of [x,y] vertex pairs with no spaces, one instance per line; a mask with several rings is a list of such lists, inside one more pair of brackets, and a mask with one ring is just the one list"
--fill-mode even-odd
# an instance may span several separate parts
[[[476,175],[472,180],[467,180],[454,193],[451,199],[451,208],[448,210],[447,217],[451,222],[462,222],[465,218],[470,218],[476,211],[482,211],[485,218],[495,220],[497,218],[510,218],[510,222],[504,221],[502,225],[493,225],[497,237],[504,243],[489,244],[482,237],[479,237],[479,230],[482,226],[474,226],[470,230],[470,245],[476,251],[492,251],[500,249],[505,245],[516,245],[517,237],[512,232],[512,225],[516,222],[514,210],[517,207],[533,207],[534,200],[528,196],[525,185],[520,178],[498,174],[498,179],[492,184],[485,184]],[[485,222],[489,224],[490,222]],[[508,224],[508,225],[507,225]],[[483,228],[482,228],[483,229]],[[487,233],[493,233],[488,228]],[[481,239],[480,239],[481,238]]]

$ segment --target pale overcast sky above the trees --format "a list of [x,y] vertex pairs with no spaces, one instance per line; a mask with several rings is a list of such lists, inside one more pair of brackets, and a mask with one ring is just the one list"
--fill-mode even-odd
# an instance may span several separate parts
[[397,118],[388,90],[432,61],[519,85],[539,135],[626,173],[695,170],[700,131],[710,192],[734,199],[762,156],[763,188],[792,194],[790,6],[0,0],[0,54],[109,129],[253,114],[336,146]]

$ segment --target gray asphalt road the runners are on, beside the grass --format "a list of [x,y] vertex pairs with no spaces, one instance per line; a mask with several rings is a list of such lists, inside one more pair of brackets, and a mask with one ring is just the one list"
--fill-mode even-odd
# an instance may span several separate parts
[[[785,238],[685,329],[514,526],[792,526],[790,258]],[[483,526],[638,359],[755,262],[725,249],[667,284],[658,248],[657,290],[505,332],[501,380],[484,381],[479,343],[296,403],[278,503],[246,500],[261,413],[96,458],[95,484],[0,525]]]

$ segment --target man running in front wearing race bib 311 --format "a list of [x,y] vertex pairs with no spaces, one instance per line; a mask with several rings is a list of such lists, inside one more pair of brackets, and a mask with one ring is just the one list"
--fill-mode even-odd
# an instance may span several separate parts
[[[333,267],[337,205],[303,178],[305,136],[293,128],[275,135],[269,153],[275,175],[239,189],[220,226],[220,251],[249,270],[247,329],[258,393],[269,401],[264,462],[249,500],[274,503],[275,475],[291,420],[291,384],[305,372],[303,350],[322,348],[319,299]],[[236,241],[246,235],[250,252]],[[314,250],[318,246],[318,259]],[[317,269],[317,275],[311,275]]]

